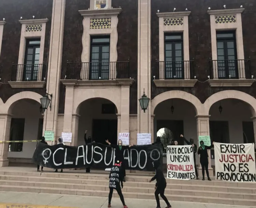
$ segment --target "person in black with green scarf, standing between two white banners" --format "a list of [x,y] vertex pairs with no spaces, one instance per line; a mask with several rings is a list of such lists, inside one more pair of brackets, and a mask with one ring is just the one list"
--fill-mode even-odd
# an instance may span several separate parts
[[204,142],[203,141],[200,141],[200,147],[197,151],[198,154],[200,154],[200,164],[202,166],[202,176],[203,176],[203,181],[204,181],[204,170],[206,172],[206,175],[207,175],[207,178],[209,181],[211,181],[211,178],[209,176],[209,171],[208,171],[208,164],[209,164],[209,161],[208,161],[208,149],[211,149],[214,145],[214,142],[212,143],[212,145],[209,147],[209,146],[205,146],[204,145]]

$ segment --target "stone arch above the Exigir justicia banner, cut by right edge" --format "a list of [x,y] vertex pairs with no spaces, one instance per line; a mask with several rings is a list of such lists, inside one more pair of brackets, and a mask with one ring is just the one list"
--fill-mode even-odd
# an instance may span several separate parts
[[224,99],[238,99],[244,101],[250,105],[252,115],[256,116],[256,99],[253,96],[238,90],[223,90],[211,95],[203,104],[206,115],[209,114],[210,108],[214,103]]

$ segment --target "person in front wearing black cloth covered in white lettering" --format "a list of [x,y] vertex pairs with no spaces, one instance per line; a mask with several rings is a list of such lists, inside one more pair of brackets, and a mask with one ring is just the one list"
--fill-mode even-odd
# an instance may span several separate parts
[[[121,183],[121,186],[120,186],[120,183]],[[121,202],[122,202],[124,208],[128,208],[125,205],[125,200],[124,200],[124,196],[123,196],[121,188],[123,189],[122,162],[117,160],[116,163],[111,168],[110,174],[109,174],[109,204],[108,204],[108,207],[111,207],[112,194],[115,189],[121,199]]]

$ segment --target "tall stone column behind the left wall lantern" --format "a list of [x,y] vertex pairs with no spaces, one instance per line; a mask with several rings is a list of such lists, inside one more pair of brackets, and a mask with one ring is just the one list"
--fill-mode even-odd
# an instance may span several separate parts
[[52,26],[49,47],[49,66],[47,73],[46,91],[53,94],[52,110],[49,108],[44,115],[44,131],[57,133],[59,108],[59,80],[62,61],[63,31],[66,0],[53,0]]

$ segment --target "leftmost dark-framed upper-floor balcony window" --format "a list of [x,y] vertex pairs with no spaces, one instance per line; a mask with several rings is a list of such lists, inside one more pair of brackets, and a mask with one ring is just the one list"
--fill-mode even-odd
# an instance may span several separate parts
[[27,39],[23,81],[37,81],[39,71],[40,39]]

